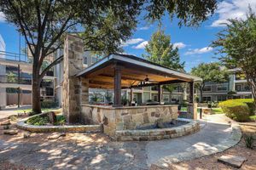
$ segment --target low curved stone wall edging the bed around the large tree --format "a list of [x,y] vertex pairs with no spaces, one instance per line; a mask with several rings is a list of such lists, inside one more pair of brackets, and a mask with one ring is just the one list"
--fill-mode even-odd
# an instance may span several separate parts
[[[36,116],[43,116],[47,113],[42,113]],[[16,126],[23,129],[30,131],[32,133],[53,133],[53,132],[102,132],[102,125],[64,125],[64,126],[36,126],[36,125],[29,125],[26,124],[26,121],[31,118],[27,117],[22,119],[20,122],[17,122]]]

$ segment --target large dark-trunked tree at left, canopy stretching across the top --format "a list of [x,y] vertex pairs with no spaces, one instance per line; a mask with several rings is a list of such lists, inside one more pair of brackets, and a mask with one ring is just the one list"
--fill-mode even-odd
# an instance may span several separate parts
[[176,14],[179,26],[198,26],[213,14],[216,3],[216,0],[0,0],[0,12],[25,37],[32,53],[32,111],[41,112],[40,83],[62,57],[43,71],[41,66],[46,56],[61,47],[67,32],[84,30],[81,36],[85,47],[108,54],[119,50],[120,42],[131,36],[142,10],[144,18],[151,21],[160,20],[167,11],[171,18]]

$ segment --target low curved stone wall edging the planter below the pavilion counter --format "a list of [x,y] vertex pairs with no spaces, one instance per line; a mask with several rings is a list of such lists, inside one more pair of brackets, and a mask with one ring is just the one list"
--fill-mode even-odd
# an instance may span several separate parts
[[178,118],[178,121],[189,122],[179,127],[148,129],[148,130],[121,130],[116,131],[118,141],[142,141],[172,139],[195,133],[200,130],[200,123],[189,119]]

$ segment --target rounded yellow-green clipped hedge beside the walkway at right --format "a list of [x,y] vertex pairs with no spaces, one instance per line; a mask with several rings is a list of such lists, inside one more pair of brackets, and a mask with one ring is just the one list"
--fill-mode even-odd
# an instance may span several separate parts
[[253,99],[229,99],[219,103],[226,116],[238,122],[246,122],[250,115],[254,115]]

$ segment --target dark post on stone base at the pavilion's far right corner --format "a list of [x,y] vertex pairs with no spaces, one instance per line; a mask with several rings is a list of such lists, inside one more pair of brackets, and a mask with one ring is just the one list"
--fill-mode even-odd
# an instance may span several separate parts
[[197,119],[197,104],[195,103],[194,82],[189,82],[189,104],[187,107],[187,118]]

